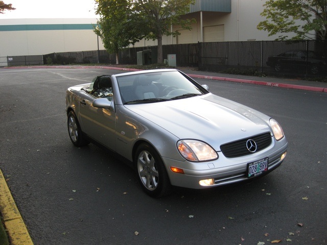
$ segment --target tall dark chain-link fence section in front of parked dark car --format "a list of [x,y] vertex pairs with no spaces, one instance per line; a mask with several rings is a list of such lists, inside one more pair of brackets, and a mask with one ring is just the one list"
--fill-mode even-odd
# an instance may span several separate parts
[[326,41],[207,42],[200,45],[199,69],[316,77],[326,75],[326,62]]

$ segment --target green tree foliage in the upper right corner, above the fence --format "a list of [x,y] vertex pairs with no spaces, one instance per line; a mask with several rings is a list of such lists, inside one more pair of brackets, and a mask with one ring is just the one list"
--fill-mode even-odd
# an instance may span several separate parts
[[287,33],[295,33],[291,40],[327,39],[326,0],[268,0],[264,7],[261,16],[266,20],[257,28],[268,36],[281,33],[276,40],[286,40]]

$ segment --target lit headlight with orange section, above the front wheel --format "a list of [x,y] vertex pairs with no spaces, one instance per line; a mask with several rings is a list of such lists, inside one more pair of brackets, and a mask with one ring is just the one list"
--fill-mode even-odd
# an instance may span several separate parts
[[192,162],[209,161],[218,158],[217,153],[208,144],[194,139],[183,139],[177,142],[179,153]]

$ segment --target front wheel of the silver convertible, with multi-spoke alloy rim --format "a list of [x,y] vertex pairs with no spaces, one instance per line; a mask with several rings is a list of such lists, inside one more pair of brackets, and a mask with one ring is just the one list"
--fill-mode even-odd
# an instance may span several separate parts
[[137,180],[150,197],[163,197],[171,192],[171,184],[159,154],[147,143],[138,146],[134,164]]

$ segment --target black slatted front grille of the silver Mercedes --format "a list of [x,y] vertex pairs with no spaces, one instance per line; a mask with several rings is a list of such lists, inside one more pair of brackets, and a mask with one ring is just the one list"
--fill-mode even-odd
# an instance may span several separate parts
[[222,144],[220,145],[220,149],[222,153],[225,155],[225,157],[241,157],[245,155],[250,155],[252,154],[252,152],[250,152],[246,148],[246,141],[248,141],[249,139],[254,140],[254,142],[256,143],[255,152],[259,152],[271,144],[270,133],[265,133],[250,138],[230,142],[227,144]]

